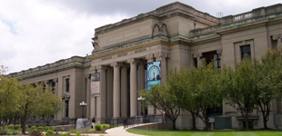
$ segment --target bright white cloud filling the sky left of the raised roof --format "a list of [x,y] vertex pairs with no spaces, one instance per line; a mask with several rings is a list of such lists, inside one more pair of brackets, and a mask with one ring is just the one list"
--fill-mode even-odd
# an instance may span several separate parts
[[[90,54],[94,29],[126,18],[125,15],[87,15],[39,1],[18,1],[12,5],[10,1],[0,5],[0,13],[9,13],[0,14],[0,64],[8,66],[9,73],[73,55]],[[6,8],[9,6],[13,8]],[[14,24],[16,34],[4,20]]]

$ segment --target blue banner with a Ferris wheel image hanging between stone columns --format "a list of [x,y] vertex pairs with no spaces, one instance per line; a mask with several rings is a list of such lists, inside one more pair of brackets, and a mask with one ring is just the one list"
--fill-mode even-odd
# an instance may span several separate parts
[[147,72],[147,90],[150,90],[152,86],[161,83],[161,62],[146,63]]

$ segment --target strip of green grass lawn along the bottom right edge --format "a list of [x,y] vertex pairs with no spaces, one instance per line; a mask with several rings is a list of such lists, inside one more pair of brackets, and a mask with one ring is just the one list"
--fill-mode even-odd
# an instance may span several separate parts
[[282,131],[126,131],[149,136],[282,136]]

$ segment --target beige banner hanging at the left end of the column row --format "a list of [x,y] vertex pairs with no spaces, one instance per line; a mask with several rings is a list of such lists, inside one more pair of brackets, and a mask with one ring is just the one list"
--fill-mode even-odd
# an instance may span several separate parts
[[91,74],[91,97],[100,96],[100,73]]

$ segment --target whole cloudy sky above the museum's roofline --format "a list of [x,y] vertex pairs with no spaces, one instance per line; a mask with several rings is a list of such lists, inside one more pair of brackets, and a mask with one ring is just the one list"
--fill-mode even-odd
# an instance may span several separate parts
[[[97,27],[174,0],[0,0],[0,65],[7,73],[91,54]],[[280,0],[178,0],[217,16],[238,15]]]

